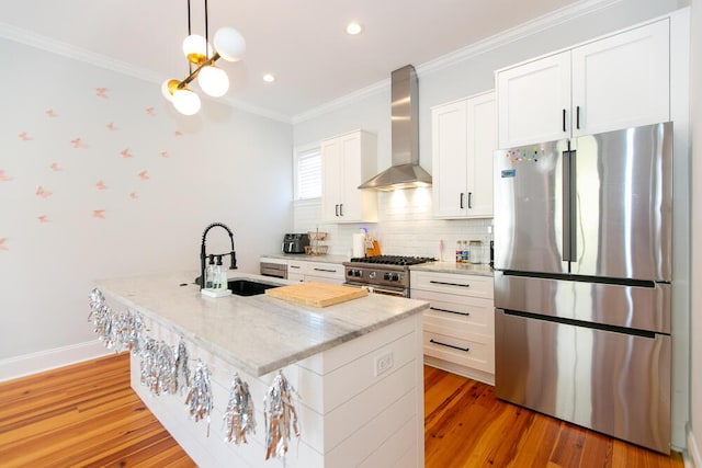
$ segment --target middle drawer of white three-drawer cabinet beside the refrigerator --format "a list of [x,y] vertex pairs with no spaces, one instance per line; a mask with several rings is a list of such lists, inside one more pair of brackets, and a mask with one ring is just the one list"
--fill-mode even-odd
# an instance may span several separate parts
[[424,311],[424,329],[452,336],[466,334],[495,334],[495,310],[490,299],[451,296],[448,294],[420,290],[412,293],[412,299],[430,303]]

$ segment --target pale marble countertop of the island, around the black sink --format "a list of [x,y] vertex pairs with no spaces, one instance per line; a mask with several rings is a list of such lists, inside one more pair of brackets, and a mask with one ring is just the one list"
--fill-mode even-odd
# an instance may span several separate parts
[[[204,297],[192,284],[196,273],[99,279],[113,300],[158,320],[174,332],[254,376],[269,374],[415,313],[422,300],[371,294],[325,308],[306,307],[258,295]],[[229,278],[296,284],[230,272]]]

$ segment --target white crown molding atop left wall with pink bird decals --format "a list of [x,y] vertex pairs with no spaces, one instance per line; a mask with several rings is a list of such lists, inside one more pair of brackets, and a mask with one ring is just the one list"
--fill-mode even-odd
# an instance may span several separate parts
[[[132,78],[137,78],[143,81],[156,83],[159,87],[163,81],[163,77],[152,70],[135,67],[125,61],[115,60],[113,58],[97,54],[86,48],[56,41],[36,33],[32,33],[3,22],[0,22],[0,37],[27,45],[30,47],[46,50],[52,54],[60,55],[63,57],[93,65],[95,67],[104,68],[106,70],[115,71],[121,75],[126,75]],[[203,98],[207,99],[206,96]],[[233,107],[236,107],[244,112],[248,112],[250,114],[256,114],[262,117],[271,118],[273,121],[283,122],[285,124],[292,123],[290,116],[270,111],[268,109],[250,105],[233,98],[217,99],[217,102],[223,101]]]

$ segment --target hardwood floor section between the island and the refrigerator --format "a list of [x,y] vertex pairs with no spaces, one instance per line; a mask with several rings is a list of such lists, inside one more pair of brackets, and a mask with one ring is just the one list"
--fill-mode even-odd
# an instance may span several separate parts
[[506,403],[494,387],[424,366],[427,467],[678,467],[667,457]]

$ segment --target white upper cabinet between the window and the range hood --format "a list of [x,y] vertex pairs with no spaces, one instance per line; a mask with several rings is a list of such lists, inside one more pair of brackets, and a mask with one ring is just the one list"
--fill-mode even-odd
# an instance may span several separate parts
[[359,190],[376,174],[375,135],[351,132],[321,142],[322,199],[326,222],[376,222],[377,193]]

